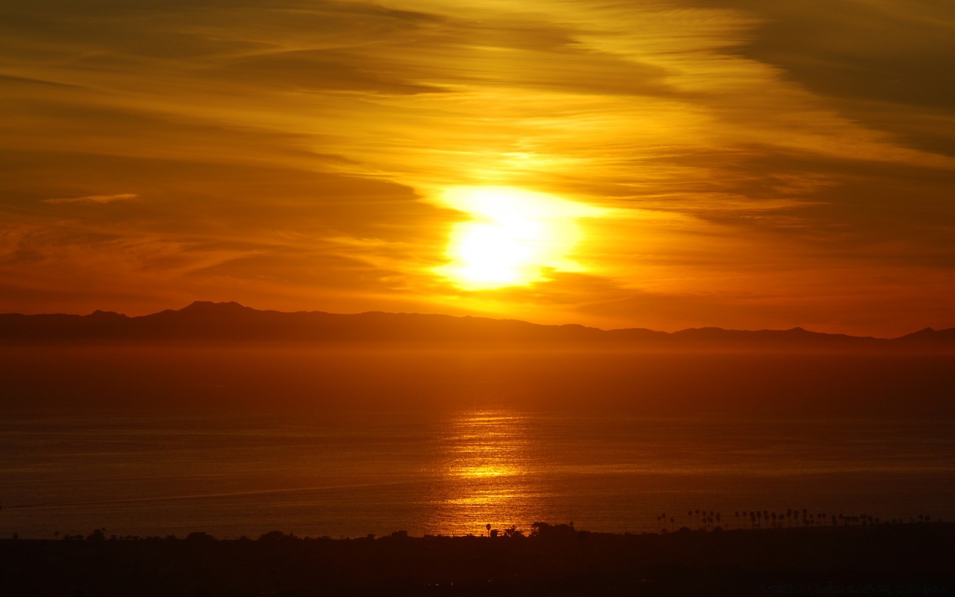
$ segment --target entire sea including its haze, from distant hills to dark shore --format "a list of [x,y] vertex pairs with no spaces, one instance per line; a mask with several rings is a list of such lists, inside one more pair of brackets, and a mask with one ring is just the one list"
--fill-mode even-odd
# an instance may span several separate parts
[[[950,357],[123,352],[54,359],[46,385],[29,351],[7,355],[18,388],[7,406],[20,404],[0,422],[0,533],[458,535],[535,521],[640,532],[662,512],[679,527],[713,510],[732,528],[736,511],[803,507],[955,516],[944,409],[908,400],[900,417],[850,395],[838,416],[823,408],[863,377],[902,394],[893,367],[941,384]],[[689,362],[709,381],[681,378]],[[844,377],[829,390],[826,362]],[[266,369],[270,390],[247,383]],[[741,382],[760,370],[803,385]],[[699,406],[714,400],[723,412]]]

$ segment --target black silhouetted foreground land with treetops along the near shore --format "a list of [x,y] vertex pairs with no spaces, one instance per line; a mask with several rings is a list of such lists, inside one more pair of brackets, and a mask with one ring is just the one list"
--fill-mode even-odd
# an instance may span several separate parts
[[3,595],[951,594],[955,523],[531,536],[0,541]]

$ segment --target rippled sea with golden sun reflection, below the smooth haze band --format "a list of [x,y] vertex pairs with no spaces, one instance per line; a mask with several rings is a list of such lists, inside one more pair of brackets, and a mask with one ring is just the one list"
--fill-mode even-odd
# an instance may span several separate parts
[[467,408],[266,416],[7,416],[0,534],[332,537],[806,507],[955,517],[944,420]]

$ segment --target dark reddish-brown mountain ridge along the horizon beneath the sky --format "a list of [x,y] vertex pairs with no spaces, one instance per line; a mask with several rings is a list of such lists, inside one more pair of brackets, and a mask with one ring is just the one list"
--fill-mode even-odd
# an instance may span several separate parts
[[0,314],[0,342],[387,342],[475,347],[633,348],[648,350],[955,351],[955,329],[873,338],[792,330],[693,328],[668,333],[646,329],[599,330],[576,324],[544,326],[514,319],[421,313],[341,314],[258,310],[238,303],[196,301],[179,310],[128,317]]

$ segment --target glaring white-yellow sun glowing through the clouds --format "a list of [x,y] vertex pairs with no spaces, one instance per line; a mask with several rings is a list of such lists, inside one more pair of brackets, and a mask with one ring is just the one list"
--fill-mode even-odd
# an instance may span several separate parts
[[502,186],[456,187],[444,203],[471,216],[451,230],[447,265],[435,271],[467,290],[524,286],[545,271],[580,271],[570,255],[582,240],[578,218],[601,209]]

